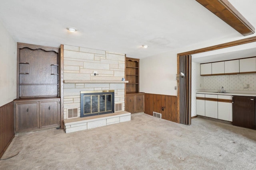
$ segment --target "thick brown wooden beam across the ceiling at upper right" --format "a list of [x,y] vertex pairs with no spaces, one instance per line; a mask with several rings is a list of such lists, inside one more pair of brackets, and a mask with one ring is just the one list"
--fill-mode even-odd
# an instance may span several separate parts
[[228,0],[196,0],[242,35],[255,33],[255,28]]

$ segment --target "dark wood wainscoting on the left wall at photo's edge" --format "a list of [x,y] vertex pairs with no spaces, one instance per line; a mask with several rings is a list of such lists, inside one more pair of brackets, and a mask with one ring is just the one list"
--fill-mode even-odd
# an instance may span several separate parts
[[14,138],[14,103],[0,107],[0,158]]

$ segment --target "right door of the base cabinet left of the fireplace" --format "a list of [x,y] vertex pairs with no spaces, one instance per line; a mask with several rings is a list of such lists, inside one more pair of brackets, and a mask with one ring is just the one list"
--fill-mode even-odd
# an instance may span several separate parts
[[59,125],[58,106],[58,101],[40,102],[40,128]]

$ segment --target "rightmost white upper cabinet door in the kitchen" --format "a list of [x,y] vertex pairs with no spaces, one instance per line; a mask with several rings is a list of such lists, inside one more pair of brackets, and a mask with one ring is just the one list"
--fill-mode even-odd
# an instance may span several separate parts
[[255,72],[256,57],[239,60],[240,72]]

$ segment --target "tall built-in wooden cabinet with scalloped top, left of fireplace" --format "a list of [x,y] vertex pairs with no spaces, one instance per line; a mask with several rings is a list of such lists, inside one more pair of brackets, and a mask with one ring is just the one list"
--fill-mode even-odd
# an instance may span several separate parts
[[60,49],[17,47],[16,132],[60,127]]

